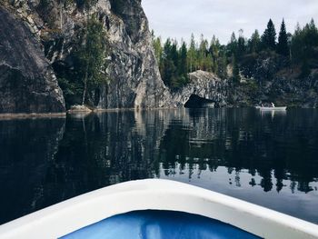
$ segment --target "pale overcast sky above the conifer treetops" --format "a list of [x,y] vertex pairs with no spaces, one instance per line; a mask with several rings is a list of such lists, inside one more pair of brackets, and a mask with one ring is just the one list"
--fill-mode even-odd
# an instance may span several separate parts
[[246,37],[254,29],[262,35],[269,18],[276,32],[283,18],[292,33],[297,22],[304,25],[313,18],[318,25],[318,0],[142,0],[142,5],[150,28],[164,39],[189,41],[194,33],[197,39],[215,35],[226,44],[241,28]]

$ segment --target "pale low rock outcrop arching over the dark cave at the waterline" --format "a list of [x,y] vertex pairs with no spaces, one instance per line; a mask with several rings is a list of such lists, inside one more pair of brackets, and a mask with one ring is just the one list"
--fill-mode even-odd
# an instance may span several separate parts
[[227,104],[228,82],[226,80],[221,80],[213,73],[204,71],[196,71],[189,74],[189,77],[190,83],[172,95],[174,106],[184,106],[191,95],[197,95],[220,107]]

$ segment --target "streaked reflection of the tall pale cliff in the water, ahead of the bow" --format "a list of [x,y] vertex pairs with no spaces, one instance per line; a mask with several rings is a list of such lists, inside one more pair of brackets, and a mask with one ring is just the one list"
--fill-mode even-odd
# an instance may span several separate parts
[[45,177],[43,202],[60,202],[109,184],[152,178],[155,148],[164,134],[160,111],[69,116]]

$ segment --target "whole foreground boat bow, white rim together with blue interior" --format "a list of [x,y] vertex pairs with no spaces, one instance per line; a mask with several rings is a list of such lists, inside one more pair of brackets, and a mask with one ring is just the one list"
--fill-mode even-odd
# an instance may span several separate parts
[[318,225],[174,181],[115,184],[0,225],[0,238],[318,238]]

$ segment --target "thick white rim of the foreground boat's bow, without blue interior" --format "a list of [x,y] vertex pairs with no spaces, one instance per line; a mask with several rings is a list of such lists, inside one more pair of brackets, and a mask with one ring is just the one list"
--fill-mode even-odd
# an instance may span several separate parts
[[318,238],[318,225],[203,188],[148,179],[115,184],[0,226],[0,238],[59,238],[117,214],[164,210],[202,215],[263,238]]

